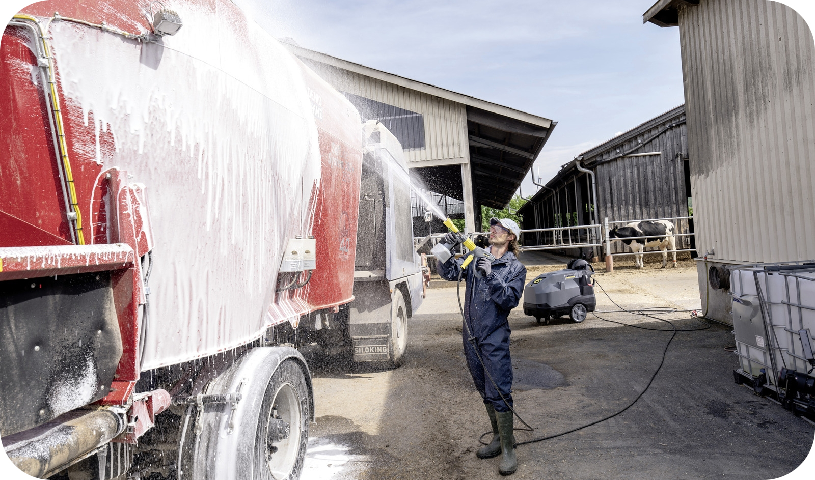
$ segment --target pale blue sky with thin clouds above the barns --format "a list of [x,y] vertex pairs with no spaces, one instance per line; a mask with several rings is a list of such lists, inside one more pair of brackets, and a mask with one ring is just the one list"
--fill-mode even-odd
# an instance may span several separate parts
[[535,162],[544,181],[684,102],[678,29],[642,24],[653,0],[236,3],[275,37],[557,121]]

